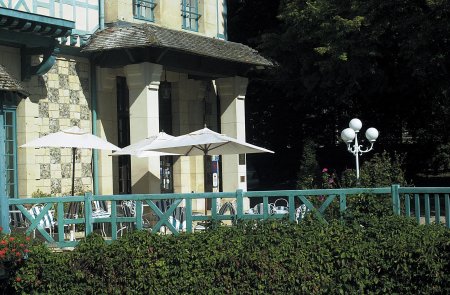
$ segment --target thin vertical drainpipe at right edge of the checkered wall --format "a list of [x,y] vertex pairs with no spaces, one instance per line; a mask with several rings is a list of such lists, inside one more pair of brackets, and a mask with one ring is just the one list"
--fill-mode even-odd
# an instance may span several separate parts
[[[89,60],[91,77],[91,113],[92,113],[92,134],[97,135],[97,72],[94,59]],[[92,150],[92,180],[93,193],[98,195],[98,151]]]

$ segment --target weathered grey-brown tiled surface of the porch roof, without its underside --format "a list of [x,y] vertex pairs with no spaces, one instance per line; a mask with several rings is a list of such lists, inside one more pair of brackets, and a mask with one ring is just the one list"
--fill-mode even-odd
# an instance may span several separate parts
[[106,28],[95,33],[82,51],[100,52],[139,47],[169,49],[250,65],[273,65],[271,61],[246,45],[152,24],[130,24]]

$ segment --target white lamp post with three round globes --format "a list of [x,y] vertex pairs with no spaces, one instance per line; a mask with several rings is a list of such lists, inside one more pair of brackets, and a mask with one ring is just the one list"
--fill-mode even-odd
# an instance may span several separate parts
[[[358,133],[361,130],[362,122],[359,119],[352,119],[348,124],[349,128],[345,128],[341,132],[341,138],[347,143],[347,150],[356,158],[356,180],[359,181],[359,156],[363,153],[370,152],[373,149],[373,144],[378,138],[378,130],[370,127],[366,130],[366,138],[370,142],[370,147],[363,149],[363,146],[358,143]],[[355,140],[353,146],[351,146]]]

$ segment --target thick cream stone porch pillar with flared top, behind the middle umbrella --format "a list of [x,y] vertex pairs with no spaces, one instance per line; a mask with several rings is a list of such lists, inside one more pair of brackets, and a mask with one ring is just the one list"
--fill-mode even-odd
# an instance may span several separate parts
[[[152,63],[124,67],[130,96],[130,143],[159,133],[158,89],[162,66]],[[160,192],[159,157],[131,157],[133,193]]]

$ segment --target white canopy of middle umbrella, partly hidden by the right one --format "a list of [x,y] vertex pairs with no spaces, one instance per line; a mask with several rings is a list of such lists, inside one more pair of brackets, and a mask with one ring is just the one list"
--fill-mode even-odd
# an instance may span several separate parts
[[178,154],[148,151],[148,149],[151,149],[157,146],[158,144],[165,143],[166,141],[172,140],[174,138],[175,137],[172,135],[169,135],[165,132],[160,132],[158,133],[158,135],[150,136],[136,143],[133,143],[129,146],[126,146],[122,148],[120,151],[112,153],[111,156],[132,155],[138,158],[153,157],[153,156],[176,156]]

